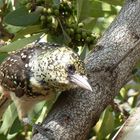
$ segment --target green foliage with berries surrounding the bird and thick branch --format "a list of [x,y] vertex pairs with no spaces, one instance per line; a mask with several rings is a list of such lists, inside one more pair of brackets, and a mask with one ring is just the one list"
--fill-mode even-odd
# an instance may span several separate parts
[[[122,0],[1,0],[0,62],[8,52],[40,39],[65,44],[84,59],[115,18],[122,3]],[[111,139],[136,106],[140,90],[139,65],[134,73],[133,82],[123,87],[115,104],[102,113],[89,139]],[[132,89],[135,90],[130,94]],[[42,121],[53,102],[38,104],[30,114],[33,122]],[[0,139],[29,140],[31,131],[29,128],[25,133],[14,104],[10,105],[1,121]]]

